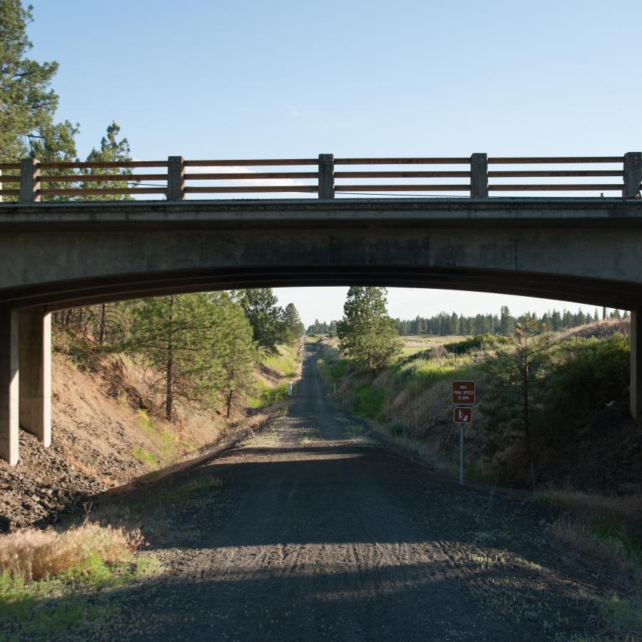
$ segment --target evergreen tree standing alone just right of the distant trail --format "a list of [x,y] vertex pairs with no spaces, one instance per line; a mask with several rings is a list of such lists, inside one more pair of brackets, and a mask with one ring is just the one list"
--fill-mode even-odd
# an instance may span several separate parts
[[387,315],[385,287],[350,287],[337,323],[340,349],[367,370],[379,370],[402,350]]

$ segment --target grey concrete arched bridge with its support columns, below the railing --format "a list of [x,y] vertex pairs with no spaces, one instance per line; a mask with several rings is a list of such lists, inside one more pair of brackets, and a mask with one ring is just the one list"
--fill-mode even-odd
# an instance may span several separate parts
[[[639,158],[618,198],[4,203],[0,457],[17,462],[19,426],[51,443],[51,311],[238,287],[448,288],[631,310],[639,418]],[[26,195],[39,189],[31,179]]]

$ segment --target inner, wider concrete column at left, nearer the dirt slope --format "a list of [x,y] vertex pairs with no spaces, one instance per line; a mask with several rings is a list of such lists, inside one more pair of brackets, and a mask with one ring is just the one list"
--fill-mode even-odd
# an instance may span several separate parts
[[18,312],[20,425],[51,445],[51,314],[39,308]]

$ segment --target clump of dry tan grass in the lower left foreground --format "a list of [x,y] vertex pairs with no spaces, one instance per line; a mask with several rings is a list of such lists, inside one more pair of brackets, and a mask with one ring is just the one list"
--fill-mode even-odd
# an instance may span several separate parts
[[143,543],[141,531],[86,523],[68,531],[24,529],[0,539],[0,571],[25,581],[57,576],[90,556],[126,561]]

